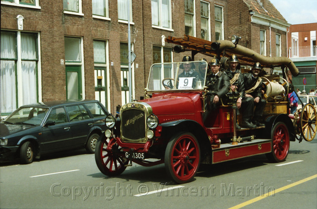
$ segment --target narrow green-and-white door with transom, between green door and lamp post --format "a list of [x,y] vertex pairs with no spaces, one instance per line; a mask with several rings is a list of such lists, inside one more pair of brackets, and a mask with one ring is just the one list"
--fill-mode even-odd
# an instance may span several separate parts
[[107,42],[94,40],[95,99],[107,107]]

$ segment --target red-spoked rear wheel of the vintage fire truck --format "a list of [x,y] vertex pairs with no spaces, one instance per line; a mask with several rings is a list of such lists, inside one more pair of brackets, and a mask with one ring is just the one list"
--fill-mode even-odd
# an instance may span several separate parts
[[275,124],[272,128],[271,138],[271,153],[267,153],[266,157],[275,163],[285,161],[290,144],[287,126],[283,122]]

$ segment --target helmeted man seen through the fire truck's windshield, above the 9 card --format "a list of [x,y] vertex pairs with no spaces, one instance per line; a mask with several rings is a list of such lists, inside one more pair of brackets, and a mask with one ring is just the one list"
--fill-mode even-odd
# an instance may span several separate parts
[[[190,56],[184,56],[183,57],[183,62],[186,62],[186,63],[182,63],[179,66],[179,68],[184,69],[184,71],[181,74],[179,74],[178,78],[194,77],[192,88],[195,88],[196,87],[196,82],[197,81],[203,81],[203,78],[199,75],[199,73],[197,73],[194,70],[195,69],[195,64],[194,63],[190,63],[191,61],[194,61],[194,60],[192,60],[192,58]],[[178,84],[178,82],[177,82],[177,84]]]

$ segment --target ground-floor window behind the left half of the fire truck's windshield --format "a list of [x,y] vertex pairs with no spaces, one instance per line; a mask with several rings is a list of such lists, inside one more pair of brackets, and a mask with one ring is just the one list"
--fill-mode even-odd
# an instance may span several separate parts
[[[153,46],[153,64],[166,62],[172,62],[172,49],[168,47]],[[164,70],[160,70],[161,67],[164,67]],[[159,86],[161,86],[161,81],[164,78],[174,77],[172,66],[168,65],[156,65],[155,69],[153,69],[153,73],[153,82],[156,89],[160,89]]]

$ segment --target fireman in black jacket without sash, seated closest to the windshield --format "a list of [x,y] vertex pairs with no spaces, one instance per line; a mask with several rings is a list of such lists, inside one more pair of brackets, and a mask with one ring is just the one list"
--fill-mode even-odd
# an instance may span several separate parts
[[226,74],[219,71],[220,62],[217,58],[212,58],[209,63],[211,66],[211,72],[207,74],[206,86],[207,97],[205,98],[205,114],[203,117],[204,123],[208,126],[207,119],[211,111],[216,110],[221,105],[221,98],[224,98],[229,91],[230,81]]

